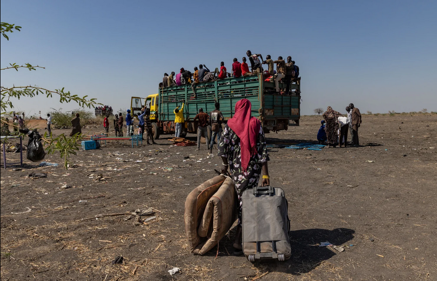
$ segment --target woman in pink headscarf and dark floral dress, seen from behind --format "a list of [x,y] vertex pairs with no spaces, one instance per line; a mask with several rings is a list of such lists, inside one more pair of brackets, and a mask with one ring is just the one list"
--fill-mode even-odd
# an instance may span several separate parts
[[218,155],[222,157],[222,172],[229,168],[238,195],[238,227],[235,234],[235,254],[242,253],[241,245],[241,194],[246,189],[258,185],[261,170],[263,186],[270,185],[266,140],[263,127],[258,119],[251,116],[251,104],[242,99],[235,105],[235,114],[223,130],[218,145]]

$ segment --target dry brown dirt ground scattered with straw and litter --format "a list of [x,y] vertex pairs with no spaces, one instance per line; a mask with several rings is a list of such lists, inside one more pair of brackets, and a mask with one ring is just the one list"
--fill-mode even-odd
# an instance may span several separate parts
[[[313,141],[320,119],[303,117],[300,127],[268,140]],[[436,121],[363,116],[363,147],[271,149],[271,184],[289,202],[292,256],[285,262],[234,256],[235,229],[220,241],[217,257],[217,247],[205,256],[188,252],[185,199],[221,165],[219,157],[207,158],[204,144],[198,152],[166,138],[133,149],[112,143],[79,151],[69,170],[27,160],[21,171],[2,167],[1,279],[437,280]],[[58,156],[45,160],[61,164]],[[142,225],[124,221],[126,215],[81,221],[146,207],[156,218]],[[319,247],[325,241],[344,251]],[[111,264],[116,256],[124,263]],[[170,276],[175,266],[181,272]]]

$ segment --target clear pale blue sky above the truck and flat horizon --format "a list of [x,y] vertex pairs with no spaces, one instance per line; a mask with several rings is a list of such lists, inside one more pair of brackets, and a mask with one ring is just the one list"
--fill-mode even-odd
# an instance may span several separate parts
[[[184,4],[183,4],[184,3]],[[437,111],[436,1],[2,1],[1,21],[22,26],[1,41],[2,86],[39,85],[115,109],[157,92],[164,72],[214,69],[246,50],[291,55],[302,77],[301,114],[354,103],[362,113]],[[15,102],[28,115],[43,97]]]

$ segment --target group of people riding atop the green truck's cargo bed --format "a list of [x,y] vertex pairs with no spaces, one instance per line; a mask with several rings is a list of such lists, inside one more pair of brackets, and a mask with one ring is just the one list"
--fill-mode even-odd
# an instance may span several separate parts
[[[180,69],[180,72],[175,75],[174,71],[168,75],[164,73],[162,83],[159,83],[159,88],[181,86],[185,84],[191,84],[193,93],[196,97],[197,84],[201,82],[214,81],[217,79],[224,79],[226,77],[241,77],[257,75],[259,73],[264,74],[264,78],[267,81],[275,81],[276,92],[280,92],[279,80],[284,79],[287,83],[286,95],[290,91],[290,83],[299,77],[299,66],[295,64],[295,61],[291,59],[291,56],[287,57],[287,62],[279,56],[277,60],[272,60],[270,55],[267,55],[266,60],[263,60],[261,54],[252,54],[250,50],[246,52],[246,55],[250,62],[249,66],[246,63],[246,57],[242,58],[242,63],[238,62],[237,58],[234,58],[232,63],[232,73],[227,72],[224,62],[220,63],[220,70],[216,68],[214,72],[210,71],[205,64],[199,64],[199,68],[194,67],[194,73],[190,70]],[[276,70],[274,70],[274,64],[276,63]],[[268,69],[264,70],[261,64],[267,64]],[[264,71],[264,72],[263,72]]]

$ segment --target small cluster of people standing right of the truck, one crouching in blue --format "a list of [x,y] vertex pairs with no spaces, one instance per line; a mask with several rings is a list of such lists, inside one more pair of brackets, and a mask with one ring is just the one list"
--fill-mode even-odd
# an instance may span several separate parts
[[346,107],[347,117],[343,117],[341,113],[328,107],[323,113],[323,120],[317,132],[317,140],[319,144],[327,143],[328,147],[336,147],[347,145],[347,129],[352,136],[351,145],[360,146],[358,137],[358,128],[361,126],[361,113],[354,104],[349,104]]

